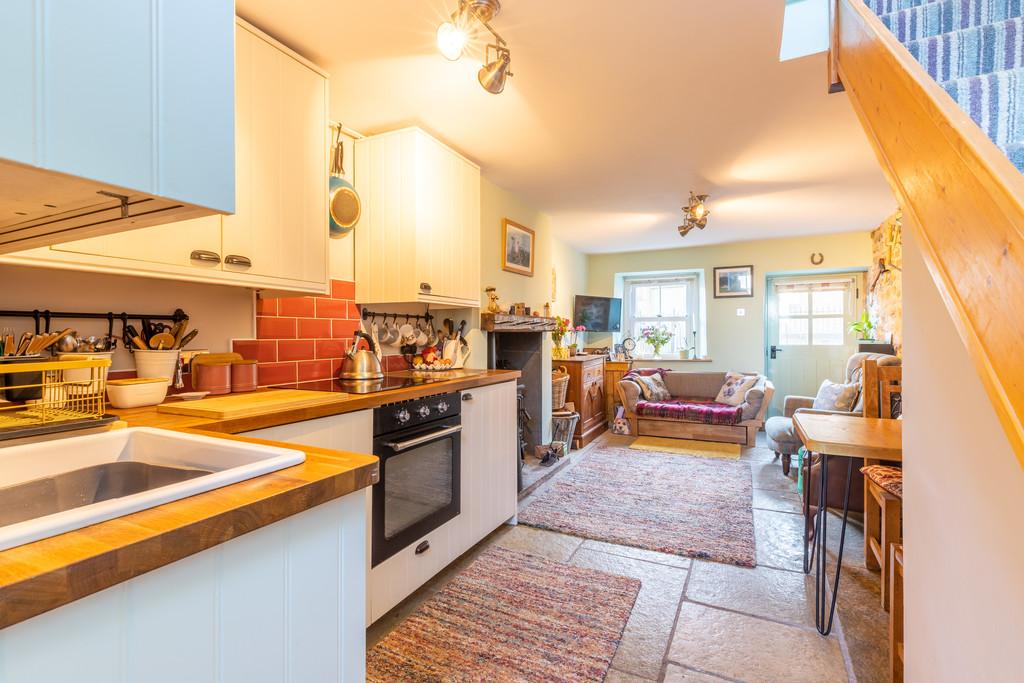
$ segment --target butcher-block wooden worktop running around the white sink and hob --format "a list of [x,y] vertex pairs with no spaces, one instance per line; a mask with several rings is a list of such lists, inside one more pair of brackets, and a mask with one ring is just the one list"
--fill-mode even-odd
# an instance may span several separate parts
[[130,427],[157,427],[298,449],[305,452],[306,460],[288,469],[0,551],[0,628],[366,488],[379,476],[378,459],[372,455],[234,434],[498,384],[519,375],[517,371],[455,371],[444,382],[376,394],[339,394],[337,401],[328,404],[223,422],[166,415],[156,408],[112,411]]

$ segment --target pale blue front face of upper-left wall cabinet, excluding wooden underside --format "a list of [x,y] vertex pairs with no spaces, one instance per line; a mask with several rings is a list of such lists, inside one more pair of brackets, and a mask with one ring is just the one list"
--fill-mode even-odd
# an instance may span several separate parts
[[0,155],[233,211],[233,24],[230,0],[4,3],[0,33],[23,35],[0,48],[18,102]]

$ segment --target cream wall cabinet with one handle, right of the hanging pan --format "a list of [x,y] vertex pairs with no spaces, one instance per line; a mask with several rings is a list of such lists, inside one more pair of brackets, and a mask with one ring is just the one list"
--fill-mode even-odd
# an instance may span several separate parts
[[480,169],[418,128],[355,141],[359,303],[480,305]]

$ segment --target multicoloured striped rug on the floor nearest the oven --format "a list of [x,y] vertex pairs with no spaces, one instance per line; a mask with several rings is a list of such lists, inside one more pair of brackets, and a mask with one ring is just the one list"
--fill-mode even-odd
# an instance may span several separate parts
[[635,579],[492,547],[367,654],[367,680],[603,681]]

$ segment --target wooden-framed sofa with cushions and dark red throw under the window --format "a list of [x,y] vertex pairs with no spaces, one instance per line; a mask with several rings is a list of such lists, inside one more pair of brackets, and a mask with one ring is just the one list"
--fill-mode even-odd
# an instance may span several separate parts
[[632,371],[616,388],[636,436],[753,446],[775,387],[756,373]]

